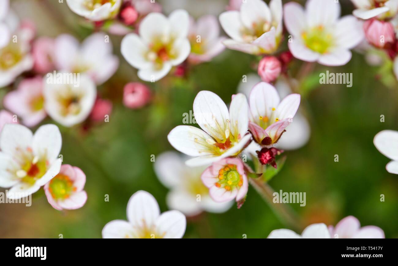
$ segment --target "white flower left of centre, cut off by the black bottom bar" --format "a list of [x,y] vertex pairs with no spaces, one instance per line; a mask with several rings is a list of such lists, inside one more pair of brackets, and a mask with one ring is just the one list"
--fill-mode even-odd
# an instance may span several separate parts
[[131,196],[127,219],[107,223],[102,238],[181,238],[187,226],[185,216],[179,211],[160,214],[156,199],[142,190]]

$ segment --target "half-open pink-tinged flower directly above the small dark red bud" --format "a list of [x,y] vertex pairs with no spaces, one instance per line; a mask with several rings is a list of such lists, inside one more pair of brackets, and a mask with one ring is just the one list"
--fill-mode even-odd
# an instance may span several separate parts
[[250,92],[249,105],[249,130],[258,144],[269,148],[293,121],[300,105],[300,95],[290,94],[280,101],[273,85],[260,82]]

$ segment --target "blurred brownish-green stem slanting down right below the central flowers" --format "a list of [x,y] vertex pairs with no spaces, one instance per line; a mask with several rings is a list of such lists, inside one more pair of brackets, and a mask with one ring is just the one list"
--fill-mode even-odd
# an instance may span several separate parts
[[250,178],[249,182],[252,184],[252,186],[254,186],[256,191],[261,195],[265,202],[267,202],[282,223],[301,233],[303,229],[302,222],[296,216],[296,214],[293,213],[293,210],[291,210],[289,206],[282,202],[273,203],[273,193],[275,191],[271,188],[271,186],[269,186],[269,184],[265,183],[261,178]]

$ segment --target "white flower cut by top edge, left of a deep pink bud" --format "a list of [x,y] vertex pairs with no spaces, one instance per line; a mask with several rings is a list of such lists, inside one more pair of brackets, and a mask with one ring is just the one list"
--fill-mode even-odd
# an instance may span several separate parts
[[70,10],[92,21],[117,16],[123,0],[66,0]]

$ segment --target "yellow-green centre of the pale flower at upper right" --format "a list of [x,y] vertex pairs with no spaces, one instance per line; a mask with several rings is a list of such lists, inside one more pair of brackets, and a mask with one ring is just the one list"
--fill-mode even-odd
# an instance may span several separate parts
[[304,31],[301,37],[306,47],[320,54],[328,52],[333,45],[333,36],[322,25],[314,27],[310,31]]

